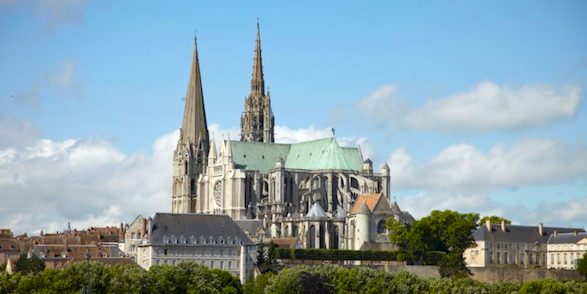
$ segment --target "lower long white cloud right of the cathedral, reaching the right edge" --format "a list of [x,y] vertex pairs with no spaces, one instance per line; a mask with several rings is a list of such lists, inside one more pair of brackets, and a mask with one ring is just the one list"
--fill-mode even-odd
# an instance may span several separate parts
[[469,144],[452,145],[424,164],[399,148],[388,162],[395,189],[486,191],[587,178],[587,146],[549,139],[496,145],[486,153]]

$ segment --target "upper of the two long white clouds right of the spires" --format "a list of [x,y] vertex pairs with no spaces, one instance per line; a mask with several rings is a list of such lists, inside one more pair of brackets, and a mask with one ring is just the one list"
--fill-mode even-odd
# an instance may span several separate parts
[[[525,85],[510,88],[481,82],[472,89],[407,107],[396,85],[384,85],[362,97],[353,109],[375,126],[438,131],[482,131],[539,127],[573,117],[581,89],[567,86]],[[331,117],[340,117],[337,107]]]

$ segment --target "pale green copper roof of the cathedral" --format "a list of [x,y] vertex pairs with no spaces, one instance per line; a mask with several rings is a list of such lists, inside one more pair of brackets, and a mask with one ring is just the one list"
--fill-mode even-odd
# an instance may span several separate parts
[[363,159],[357,147],[341,147],[334,138],[295,144],[231,141],[232,159],[237,168],[259,170],[275,168],[281,157],[285,168],[305,170],[361,171]]

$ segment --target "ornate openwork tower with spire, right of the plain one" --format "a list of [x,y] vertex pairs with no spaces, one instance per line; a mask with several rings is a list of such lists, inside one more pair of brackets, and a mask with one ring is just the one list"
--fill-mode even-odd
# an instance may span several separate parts
[[251,94],[245,99],[245,110],[241,117],[241,141],[272,143],[274,141],[274,124],[271,98],[269,92],[265,94],[263,61],[261,58],[261,34],[259,32],[259,22],[257,21]]

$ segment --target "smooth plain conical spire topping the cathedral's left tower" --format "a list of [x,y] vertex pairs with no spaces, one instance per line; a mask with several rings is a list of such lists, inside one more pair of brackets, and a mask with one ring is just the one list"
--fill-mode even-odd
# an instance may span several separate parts
[[208,126],[206,124],[206,110],[204,108],[204,94],[202,91],[202,76],[198,59],[198,39],[194,37],[194,53],[188,89],[185,95],[185,110],[183,113],[182,143],[186,145],[200,144],[199,140],[208,141]]

